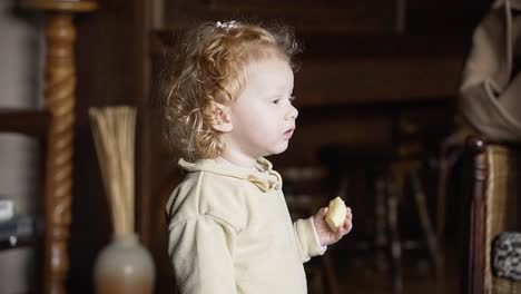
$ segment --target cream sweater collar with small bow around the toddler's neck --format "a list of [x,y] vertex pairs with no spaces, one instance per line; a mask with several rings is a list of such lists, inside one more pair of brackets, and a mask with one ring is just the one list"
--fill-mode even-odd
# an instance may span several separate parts
[[242,167],[218,164],[213,159],[199,159],[195,163],[179,159],[179,167],[188,173],[206,171],[222,176],[240,178],[255,184],[262,192],[269,189],[281,189],[281,175],[273,170],[273,165],[266,158],[259,157],[255,163],[257,170],[249,170]]

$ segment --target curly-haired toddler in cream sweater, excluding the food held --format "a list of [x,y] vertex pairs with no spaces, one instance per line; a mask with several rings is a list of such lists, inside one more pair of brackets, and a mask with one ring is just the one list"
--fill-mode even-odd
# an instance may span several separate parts
[[178,42],[164,115],[186,171],[166,207],[168,253],[180,293],[304,294],[303,263],[352,228],[332,231],[327,207],[294,224],[281,175],[265,156],[295,131],[292,58],[284,27],[205,23]]

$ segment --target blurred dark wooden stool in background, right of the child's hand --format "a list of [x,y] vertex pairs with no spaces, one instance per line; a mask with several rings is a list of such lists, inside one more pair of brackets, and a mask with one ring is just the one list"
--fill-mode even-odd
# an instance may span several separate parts
[[[371,199],[374,200],[373,239],[368,246],[360,247],[368,247],[375,252],[374,263],[377,268],[389,265],[393,293],[403,291],[402,251],[404,248],[420,248],[424,245],[435,275],[442,275],[441,252],[431,225],[426,196],[420,178],[422,167],[420,159],[396,156],[385,150],[357,150],[341,146],[323,148],[320,157],[323,164],[330,167],[331,174],[335,175],[333,182],[336,182],[338,196],[347,203],[355,203],[352,200],[353,193],[348,190],[350,177],[364,173],[363,175],[368,177],[367,180],[373,183],[374,199]],[[413,196],[413,207],[421,229],[420,239],[415,241],[404,241],[400,235],[399,206],[406,195]],[[353,209],[356,215],[356,207]],[[358,227],[363,225],[358,224]]]

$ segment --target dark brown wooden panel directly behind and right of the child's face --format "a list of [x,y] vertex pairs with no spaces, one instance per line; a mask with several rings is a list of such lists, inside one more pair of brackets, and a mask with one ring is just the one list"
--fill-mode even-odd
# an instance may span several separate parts
[[303,60],[295,94],[303,106],[390,102],[454,96],[463,58]]

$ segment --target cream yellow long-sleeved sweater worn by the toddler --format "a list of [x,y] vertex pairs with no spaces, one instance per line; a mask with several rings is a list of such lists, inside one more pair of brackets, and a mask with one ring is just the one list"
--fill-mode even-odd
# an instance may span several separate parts
[[282,180],[214,160],[187,171],[167,204],[168,253],[183,294],[304,294],[303,263],[324,253],[312,218],[292,224]]

